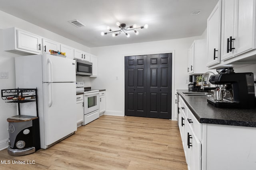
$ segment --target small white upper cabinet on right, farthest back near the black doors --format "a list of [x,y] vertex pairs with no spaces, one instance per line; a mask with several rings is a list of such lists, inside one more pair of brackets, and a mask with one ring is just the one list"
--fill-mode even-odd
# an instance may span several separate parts
[[208,70],[206,64],[206,39],[197,39],[189,49],[188,73],[203,74]]

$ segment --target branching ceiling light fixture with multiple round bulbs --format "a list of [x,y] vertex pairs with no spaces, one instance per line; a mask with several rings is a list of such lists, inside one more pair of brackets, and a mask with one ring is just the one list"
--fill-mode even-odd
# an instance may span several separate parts
[[124,32],[126,37],[129,38],[130,34],[128,34],[126,31],[134,31],[135,35],[138,35],[139,31],[137,31],[135,29],[139,29],[139,28],[141,28],[141,29],[142,28],[148,29],[148,24],[145,24],[144,26],[141,26],[141,27],[137,27],[136,24],[131,25],[129,27],[126,27],[125,23],[116,22],[116,26],[118,26],[120,29],[117,30],[117,31],[113,31],[110,27],[107,27],[108,31],[110,31],[110,32],[105,32],[105,33],[101,32],[100,34],[103,36],[103,35],[106,35],[108,33],[112,33],[112,37],[116,37],[117,35],[121,34],[121,32]]

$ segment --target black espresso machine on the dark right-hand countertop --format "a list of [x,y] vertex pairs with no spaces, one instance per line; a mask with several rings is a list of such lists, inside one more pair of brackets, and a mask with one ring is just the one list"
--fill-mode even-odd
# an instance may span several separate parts
[[255,108],[254,76],[252,72],[235,73],[233,68],[222,68],[219,74],[210,76],[209,82],[225,88],[229,96],[223,100],[207,99],[220,108]]

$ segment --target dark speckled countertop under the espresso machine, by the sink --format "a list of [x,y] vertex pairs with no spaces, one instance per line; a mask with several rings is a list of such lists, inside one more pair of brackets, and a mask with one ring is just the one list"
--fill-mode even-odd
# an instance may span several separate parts
[[182,92],[188,90],[177,92],[200,123],[256,127],[256,109],[217,108],[207,102],[213,97],[184,96]]

